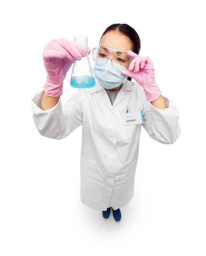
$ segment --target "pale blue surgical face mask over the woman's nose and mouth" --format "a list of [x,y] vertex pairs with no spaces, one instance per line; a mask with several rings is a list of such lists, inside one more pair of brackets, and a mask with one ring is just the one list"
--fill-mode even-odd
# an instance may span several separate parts
[[123,67],[112,60],[107,60],[106,63],[104,63],[105,59],[96,58],[93,67],[96,80],[102,87],[112,89],[126,82],[127,76],[121,74],[122,70],[128,70],[126,67]]

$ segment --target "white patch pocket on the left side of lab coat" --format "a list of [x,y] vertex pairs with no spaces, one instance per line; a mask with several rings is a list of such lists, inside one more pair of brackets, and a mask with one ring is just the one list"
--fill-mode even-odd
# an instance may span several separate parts
[[81,176],[81,189],[84,195],[92,195],[96,173],[96,161],[87,160],[81,157],[80,160],[80,176]]

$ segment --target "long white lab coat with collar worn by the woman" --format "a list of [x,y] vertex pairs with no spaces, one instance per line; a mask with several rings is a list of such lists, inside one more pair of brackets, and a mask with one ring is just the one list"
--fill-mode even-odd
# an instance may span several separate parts
[[[93,88],[77,90],[64,105],[60,97],[44,111],[39,108],[42,93],[31,100],[34,123],[42,136],[62,140],[82,125],[80,198],[92,209],[118,209],[132,199],[141,125],[163,144],[174,143],[181,133],[175,104],[164,96],[168,108],[155,108],[133,81],[122,85],[113,105],[98,82]],[[130,112],[142,110],[144,123],[124,125],[127,107]]]

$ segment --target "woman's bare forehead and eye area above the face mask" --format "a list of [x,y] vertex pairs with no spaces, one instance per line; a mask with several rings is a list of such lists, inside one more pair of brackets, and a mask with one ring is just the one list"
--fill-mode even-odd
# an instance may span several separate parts
[[[120,65],[126,68],[129,67],[130,57],[121,53],[127,53],[128,50],[132,50],[132,44],[127,36],[116,31],[107,32],[102,36],[99,46],[105,47],[99,52],[99,58],[111,58]],[[106,47],[114,48],[121,52],[116,52],[114,54],[114,52],[110,51],[110,49],[107,49]]]

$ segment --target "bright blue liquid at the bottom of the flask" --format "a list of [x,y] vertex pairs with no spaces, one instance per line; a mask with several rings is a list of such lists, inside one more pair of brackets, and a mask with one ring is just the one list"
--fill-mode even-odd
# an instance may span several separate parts
[[90,88],[94,87],[96,82],[93,76],[73,76],[70,84],[75,88]]

